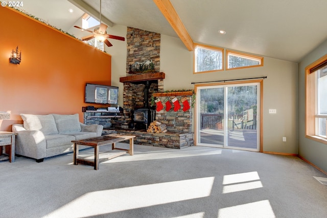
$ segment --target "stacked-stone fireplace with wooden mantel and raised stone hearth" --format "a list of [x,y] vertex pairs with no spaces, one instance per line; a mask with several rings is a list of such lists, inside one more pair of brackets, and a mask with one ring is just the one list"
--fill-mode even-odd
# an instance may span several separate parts
[[[126,77],[121,77],[124,83],[123,112],[121,117],[114,121],[114,129],[104,129],[104,134],[135,135],[136,144],[184,148],[194,145],[192,133],[192,112],[184,112],[182,107],[178,111],[156,111],[156,106],[151,104],[155,93],[164,93],[165,73],[159,72],[160,68],[160,34],[127,28],[127,62]],[[135,62],[151,61],[153,69],[146,72],[133,72],[131,66]],[[181,100],[182,96],[176,96]],[[160,98],[162,102],[169,100]],[[191,102],[191,96],[188,96]],[[147,111],[147,115],[145,115]],[[135,117],[134,114],[142,112],[143,115]],[[152,113],[155,114],[153,118]],[[149,116],[149,114],[151,116]],[[146,128],[150,121],[157,120],[167,125],[166,133],[147,133]]]

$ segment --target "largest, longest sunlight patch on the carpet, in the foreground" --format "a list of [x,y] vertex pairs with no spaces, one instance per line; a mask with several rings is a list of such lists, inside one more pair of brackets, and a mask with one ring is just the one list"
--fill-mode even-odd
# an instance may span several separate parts
[[214,180],[206,177],[88,192],[46,216],[95,216],[204,198],[211,194]]

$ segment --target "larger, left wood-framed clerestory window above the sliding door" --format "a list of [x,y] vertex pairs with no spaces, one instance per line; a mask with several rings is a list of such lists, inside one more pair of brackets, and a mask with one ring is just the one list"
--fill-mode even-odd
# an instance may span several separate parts
[[194,73],[223,70],[224,49],[194,43]]

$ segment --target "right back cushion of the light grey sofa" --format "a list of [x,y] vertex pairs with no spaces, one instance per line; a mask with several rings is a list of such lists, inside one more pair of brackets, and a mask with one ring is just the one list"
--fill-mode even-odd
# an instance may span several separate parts
[[61,115],[53,114],[59,134],[74,133],[81,131],[78,114]]

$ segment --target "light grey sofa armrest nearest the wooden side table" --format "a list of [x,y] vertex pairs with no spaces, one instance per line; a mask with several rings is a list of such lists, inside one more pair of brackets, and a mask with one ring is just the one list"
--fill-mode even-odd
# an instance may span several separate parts
[[46,142],[39,130],[27,130],[22,124],[13,124],[12,132],[17,133],[15,153],[35,159],[45,158]]

